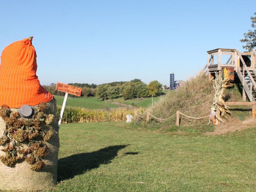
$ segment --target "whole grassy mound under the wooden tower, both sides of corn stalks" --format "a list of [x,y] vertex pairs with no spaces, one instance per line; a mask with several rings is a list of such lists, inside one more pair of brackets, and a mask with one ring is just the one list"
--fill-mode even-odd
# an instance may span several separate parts
[[[241,92],[239,91],[240,84],[235,79],[233,87],[225,90],[224,101],[242,101]],[[191,77],[179,89],[167,93],[165,96],[155,103],[153,107],[149,107],[149,112],[158,118],[165,119],[173,116],[176,111],[180,111],[187,116],[205,117],[202,119],[192,119],[180,115],[180,125],[188,128],[193,128],[197,131],[209,131],[213,126],[207,125],[211,106],[213,103],[215,91],[213,82],[209,81],[208,76],[202,71],[197,76]],[[228,115],[225,121],[235,119],[244,120],[250,116],[250,106],[229,106],[231,115]],[[159,120],[150,117],[149,123],[146,123],[146,118],[135,117],[135,125],[138,127],[145,126],[150,129],[176,129],[176,118],[167,119],[160,122]]]

